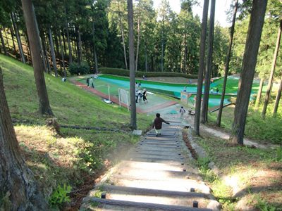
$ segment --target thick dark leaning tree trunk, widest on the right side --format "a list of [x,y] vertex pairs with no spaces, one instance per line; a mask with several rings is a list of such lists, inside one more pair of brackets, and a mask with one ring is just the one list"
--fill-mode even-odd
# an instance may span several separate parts
[[267,0],[252,1],[252,12],[247,32],[242,72],[240,73],[238,94],[234,110],[234,122],[230,137],[231,142],[238,143],[240,145],[243,145],[247,108],[250,103],[252,81],[255,75],[257,53],[259,51],[262,27],[264,25],[266,5]]

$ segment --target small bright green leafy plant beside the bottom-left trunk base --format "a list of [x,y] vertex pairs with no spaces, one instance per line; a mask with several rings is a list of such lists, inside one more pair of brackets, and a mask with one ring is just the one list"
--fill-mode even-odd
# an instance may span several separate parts
[[57,186],[49,198],[49,205],[53,208],[61,208],[63,203],[71,201],[70,197],[67,196],[68,193],[71,193],[71,186],[66,186],[66,184]]

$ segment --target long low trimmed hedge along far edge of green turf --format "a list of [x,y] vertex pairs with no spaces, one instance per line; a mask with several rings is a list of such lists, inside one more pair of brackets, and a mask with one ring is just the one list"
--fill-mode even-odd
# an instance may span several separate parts
[[[111,75],[120,75],[129,77],[129,70],[118,69],[118,68],[99,68],[99,72]],[[185,77],[185,78],[197,78],[197,75],[187,75],[179,72],[135,72],[135,77]]]

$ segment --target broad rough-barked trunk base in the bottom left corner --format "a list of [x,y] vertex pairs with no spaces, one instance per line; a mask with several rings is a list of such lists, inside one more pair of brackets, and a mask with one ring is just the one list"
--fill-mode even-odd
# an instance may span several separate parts
[[0,190],[11,202],[9,210],[47,210],[30,169],[20,155],[0,68]]

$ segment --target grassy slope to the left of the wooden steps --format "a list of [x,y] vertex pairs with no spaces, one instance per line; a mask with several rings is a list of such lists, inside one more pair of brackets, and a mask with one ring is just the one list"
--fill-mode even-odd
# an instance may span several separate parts
[[[137,141],[130,135],[130,113],[124,108],[108,105],[71,83],[45,75],[51,109],[59,124],[128,131],[61,128],[63,136],[59,136],[44,126],[45,117],[37,113],[38,98],[32,68],[3,55],[0,55],[0,65],[11,117],[20,122],[15,127],[18,141],[46,198],[59,184],[70,184],[73,190],[78,188],[91,175],[99,174],[104,166],[109,165],[106,158],[117,155],[118,146]],[[137,121],[138,127],[145,130],[152,117],[137,115]]]

